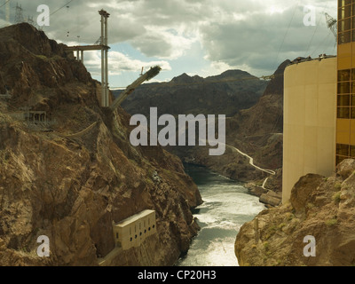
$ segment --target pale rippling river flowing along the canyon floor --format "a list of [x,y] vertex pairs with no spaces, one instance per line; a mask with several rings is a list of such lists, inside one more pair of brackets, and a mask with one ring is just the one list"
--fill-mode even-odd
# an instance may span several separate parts
[[201,206],[193,210],[201,231],[177,266],[236,266],[234,241],[241,225],[252,220],[264,204],[248,194],[241,183],[203,167],[185,165],[185,171],[198,185]]

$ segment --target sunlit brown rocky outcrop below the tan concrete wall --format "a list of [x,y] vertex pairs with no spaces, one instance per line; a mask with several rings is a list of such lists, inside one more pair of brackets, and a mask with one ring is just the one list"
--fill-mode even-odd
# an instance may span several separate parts
[[[355,265],[355,161],[332,177],[309,174],[292,189],[290,202],[262,211],[241,227],[235,255],[241,265]],[[316,256],[304,256],[313,236]]]

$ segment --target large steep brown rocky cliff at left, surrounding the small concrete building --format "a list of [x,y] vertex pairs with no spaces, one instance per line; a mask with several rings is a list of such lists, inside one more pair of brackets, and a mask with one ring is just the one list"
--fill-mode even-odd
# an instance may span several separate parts
[[[130,115],[99,107],[99,84],[65,47],[28,24],[0,29],[12,94],[0,99],[0,265],[98,265],[114,248],[112,222],[143,209],[156,211],[157,233],[110,264],[174,264],[199,229],[197,186],[162,147],[130,145]],[[25,122],[24,109],[49,125]],[[36,255],[40,235],[50,257]]]

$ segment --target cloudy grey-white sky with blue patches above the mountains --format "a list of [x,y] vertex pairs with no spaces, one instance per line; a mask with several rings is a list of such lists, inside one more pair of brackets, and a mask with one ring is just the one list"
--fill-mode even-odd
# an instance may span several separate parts
[[[0,0],[0,6],[5,2]],[[261,76],[272,75],[285,59],[336,53],[325,17],[327,12],[336,18],[335,0],[12,0],[12,23],[17,3],[24,19],[32,16],[35,22],[41,13],[37,6],[48,5],[50,26],[43,31],[68,45],[95,43],[100,36],[98,11],[109,12],[111,88],[127,86],[142,67],[154,65],[162,67],[158,81],[228,69]],[[304,20],[313,24],[311,8],[315,25],[306,26]],[[5,5],[0,27],[5,25],[4,12]],[[84,58],[99,80],[100,52],[86,51]]]

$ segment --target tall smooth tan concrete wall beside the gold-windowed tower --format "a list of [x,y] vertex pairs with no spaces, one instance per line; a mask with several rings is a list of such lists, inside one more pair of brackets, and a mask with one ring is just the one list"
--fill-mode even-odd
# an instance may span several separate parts
[[335,170],[336,64],[311,60],[285,70],[282,203],[300,177]]

